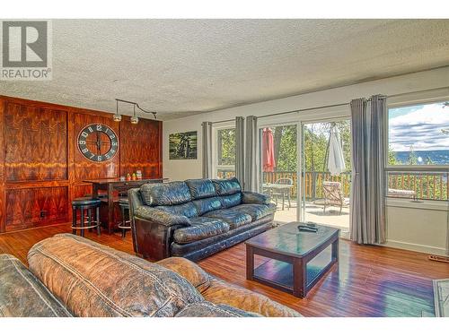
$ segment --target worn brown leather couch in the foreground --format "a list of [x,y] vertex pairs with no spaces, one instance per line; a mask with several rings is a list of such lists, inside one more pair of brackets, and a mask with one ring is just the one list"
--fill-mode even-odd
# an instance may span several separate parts
[[40,241],[28,263],[0,255],[0,316],[300,316],[187,259],[150,263],[70,234]]

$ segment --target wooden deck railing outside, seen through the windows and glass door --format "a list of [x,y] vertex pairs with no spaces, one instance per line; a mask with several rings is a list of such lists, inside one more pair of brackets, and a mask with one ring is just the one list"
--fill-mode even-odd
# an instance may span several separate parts
[[[219,178],[234,177],[233,170],[218,171]],[[296,197],[297,194],[297,174],[295,171],[276,171],[263,172],[263,183],[276,183],[279,178],[291,178],[293,187],[290,196]],[[449,178],[446,172],[388,172],[388,188],[399,190],[414,191],[418,199],[423,200],[447,200],[449,190]],[[322,183],[324,181],[340,182],[345,197],[349,197],[351,187],[351,172],[345,172],[337,177],[332,177],[329,172],[306,171],[304,172],[305,198],[307,200],[316,200],[323,198]]]

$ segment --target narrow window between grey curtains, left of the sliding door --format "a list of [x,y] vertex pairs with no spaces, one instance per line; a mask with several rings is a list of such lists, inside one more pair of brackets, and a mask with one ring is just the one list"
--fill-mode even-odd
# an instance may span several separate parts
[[216,177],[235,176],[235,128],[216,130]]

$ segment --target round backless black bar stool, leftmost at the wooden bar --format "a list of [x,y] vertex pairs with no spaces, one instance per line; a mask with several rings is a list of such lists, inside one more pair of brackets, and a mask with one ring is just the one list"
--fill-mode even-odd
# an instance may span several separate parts
[[[100,204],[101,201],[99,199],[91,197],[79,197],[72,201],[72,233],[74,235],[76,235],[76,230],[81,230],[81,237],[84,237],[85,228],[97,228],[98,236],[101,235]],[[81,217],[79,223],[76,220],[78,209]],[[95,220],[92,220],[92,210],[95,210]],[[84,220],[84,211],[87,211],[87,221]],[[87,226],[84,226],[86,222]]]

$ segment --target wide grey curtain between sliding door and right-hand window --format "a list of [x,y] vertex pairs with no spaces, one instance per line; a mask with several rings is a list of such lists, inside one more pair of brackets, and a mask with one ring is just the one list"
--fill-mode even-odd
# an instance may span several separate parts
[[[354,99],[352,122],[351,240],[358,244],[385,242],[384,136],[385,97]],[[367,108],[369,105],[369,108]]]

